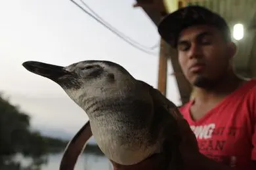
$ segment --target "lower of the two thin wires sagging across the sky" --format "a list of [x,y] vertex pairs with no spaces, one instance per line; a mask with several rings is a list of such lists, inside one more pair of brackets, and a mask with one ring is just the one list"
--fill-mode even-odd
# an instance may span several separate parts
[[[77,7],[79,7],[79,9],[83,10],[83,12],[85,12],[86,14],[88,14],[89,16],[91,16],[93,19],[95,19],[97,22],[99,22],[100,24],[102,24],[104,27],[106,27],[107,29],[109,29],[110,31],[112,31],[112,33],[116,34],[119,38],[123,39],[123,41],[127,42],[128,44],[130,44],[131,46],[146,52],[147,54],[151,54],[151,55],[156,55],[156,53],[150,52],[148,50],[145,50],[143,48],[141,48],[140,46],[137,46],[135,44],[133,44],[133,42],[129,42],[127,39],[125,39],[124,37],[122,37],[122,35],[120,35],[119,33],[117,33],[115,30],[113,30],[111,27],[109,27],[108,25],[104,24],[101,20],[99,20],[98,18],[96,18],[95,16],[93,16],[93,14],[91,14],[90,12],[88,12],[87,10],[83,9],[83,7],[81,7],[79,4],[77,4],[75,1],[72,1],[72,3],[74,3],[75,5],[77,5]],[[83,2],[84,3],[84,2]]]

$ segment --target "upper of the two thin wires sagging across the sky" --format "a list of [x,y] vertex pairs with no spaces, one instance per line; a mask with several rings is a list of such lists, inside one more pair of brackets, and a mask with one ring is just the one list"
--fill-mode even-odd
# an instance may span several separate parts
[[140,44],[139,42],[134,41],[133,39],[131,39],[130,37],[127,37],[125,34],[121,33],[119,30],[117,30],[115,27],[113,27],[111,24],[109,24],[108,22],[106,22],[106,20],[104,20],[101,16],[99,16],[93,9],[91,9],[91,7],[89,7],[89,5],[87,5],[83,0],[80,0],[81,3],[83,3],[83,5],[85,7],[87,7],[87,9],[89,9],[96,17],[98,17],[98,19],[100,19],[102,22],[104,22],[104,25],[107,25],[108,27],[111,27],[114,31],[116,31],[117,33],[121,34],[123,37],[125,37],[126,39],[129,39],[130,41],[133,41],[133,43],[138,44],[140,46],[142,46],[143,48],[148,48],[149,50],[154,50],[155,48],[158,47],[159,43],[155,44],[154,46],[148,47],[148,46],[143,46],[142,44]]

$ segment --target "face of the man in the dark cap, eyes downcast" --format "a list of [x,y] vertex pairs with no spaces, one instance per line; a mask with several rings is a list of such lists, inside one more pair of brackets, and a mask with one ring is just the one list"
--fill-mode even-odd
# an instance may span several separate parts
[[229,69],[230,48],[214,27],[196,25],[184,29],[177,42],[181,69],[193,86],[211,88]]

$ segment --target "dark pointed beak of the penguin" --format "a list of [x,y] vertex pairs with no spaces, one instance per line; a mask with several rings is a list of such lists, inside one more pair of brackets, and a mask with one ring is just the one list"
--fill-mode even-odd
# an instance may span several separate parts
[[71,75],[69,71],[66,71],[64,67],[58,65],[51,65],[47,63],[41,63],[38,61],[26,61],[22,65],[30,72],[37,75],[45,76],[56,82],[59,78],[67,75]]

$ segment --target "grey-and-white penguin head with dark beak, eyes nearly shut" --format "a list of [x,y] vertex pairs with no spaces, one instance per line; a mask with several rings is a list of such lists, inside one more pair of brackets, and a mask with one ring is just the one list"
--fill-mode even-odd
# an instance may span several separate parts
[[121,65],[111,61],[87,60],[67,67],[39,61],[26,61],[22,65],[59,84],[80,107],[86,98],[109,96],[129,88],[135,80]]

